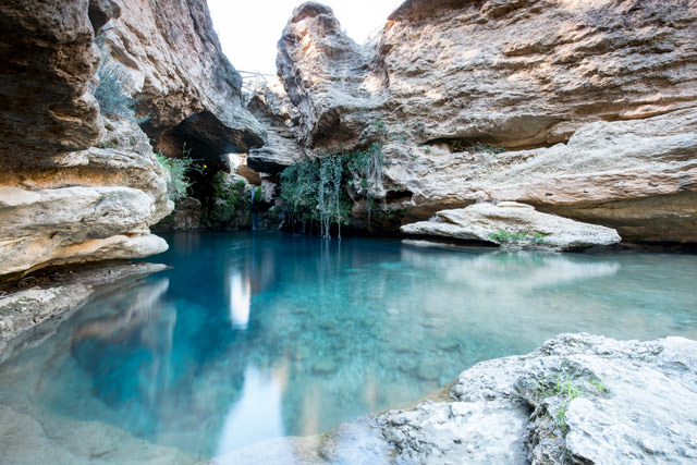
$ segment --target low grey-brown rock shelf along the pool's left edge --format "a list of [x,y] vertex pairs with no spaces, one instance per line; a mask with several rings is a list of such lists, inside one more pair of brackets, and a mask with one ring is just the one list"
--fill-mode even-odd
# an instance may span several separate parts
[[[27,277],[0,295],[0,363],[19,347],[50,335],[62,318],[95,292],[166,269],[160,264],[96,264],[51,277]],[[49,322],[53,320],[53,325]],[[41,325],[46,322],[46,325]]]

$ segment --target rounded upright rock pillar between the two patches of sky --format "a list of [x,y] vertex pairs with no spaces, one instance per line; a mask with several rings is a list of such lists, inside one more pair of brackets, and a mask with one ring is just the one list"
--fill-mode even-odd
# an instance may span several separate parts
[[372,46],[354,42],[330,8],[306,2],[293,11],[279,41],[278,75],[299,111],[297,133],[306,147],[339,149],[358,138],[370,114],[384,105],[383,75]]

